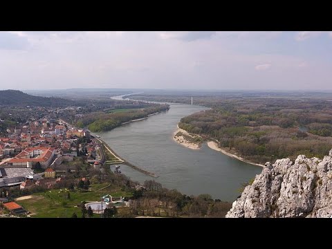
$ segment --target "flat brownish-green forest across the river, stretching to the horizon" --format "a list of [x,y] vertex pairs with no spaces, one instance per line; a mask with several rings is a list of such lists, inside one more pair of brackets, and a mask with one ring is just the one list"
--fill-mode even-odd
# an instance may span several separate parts
[[[137,99],[188,103],[187,96],[142,95]],[[297,155],[322,158],[332,148],[332,102],[328,98],[232,98],[196,96],[210,110],[184,117],[178,126],[219,142],[254,163]]]

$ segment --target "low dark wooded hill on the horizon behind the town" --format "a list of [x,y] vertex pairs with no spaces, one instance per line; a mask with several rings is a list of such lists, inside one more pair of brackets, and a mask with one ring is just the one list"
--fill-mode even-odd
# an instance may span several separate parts
[[39,106],[39,107],[68,107],[78,106],[79,103],[63,98],[45,98],[28,95],[17,90],[0,91],[0,105],[11,106]]

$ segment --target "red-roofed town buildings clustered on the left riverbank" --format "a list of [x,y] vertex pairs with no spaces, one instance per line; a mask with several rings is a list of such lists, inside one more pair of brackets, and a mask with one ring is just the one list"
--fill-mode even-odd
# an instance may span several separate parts
[[[37,186],[52,189],[64,181],[66,175],[79,172],[82,165],[98,172],[103,170],[100,165],[104,163],[122,163],[120,158],[107,160],[101,140],[91,136],[89,130],[77,129],[63,120],[33,120],[17,125],[15,129],[7,129],[7,134],[6,137],[0,138],[2,190],[6,187],[29,190]],[[115,172],[120,173],[118,167]],[[87,178],[83,178],[83,181],[86,180]],[[4,208],[12,214],[26,212],[15,202],[6,203],[10,199],[8,191],[0,192],[0,201],[4,203]],[[125,205],[122,197],[120,201],[116,201],[119,202],[118,206],[121,206],[121,203]],[[106,204],[108,203],[104,205]]]

